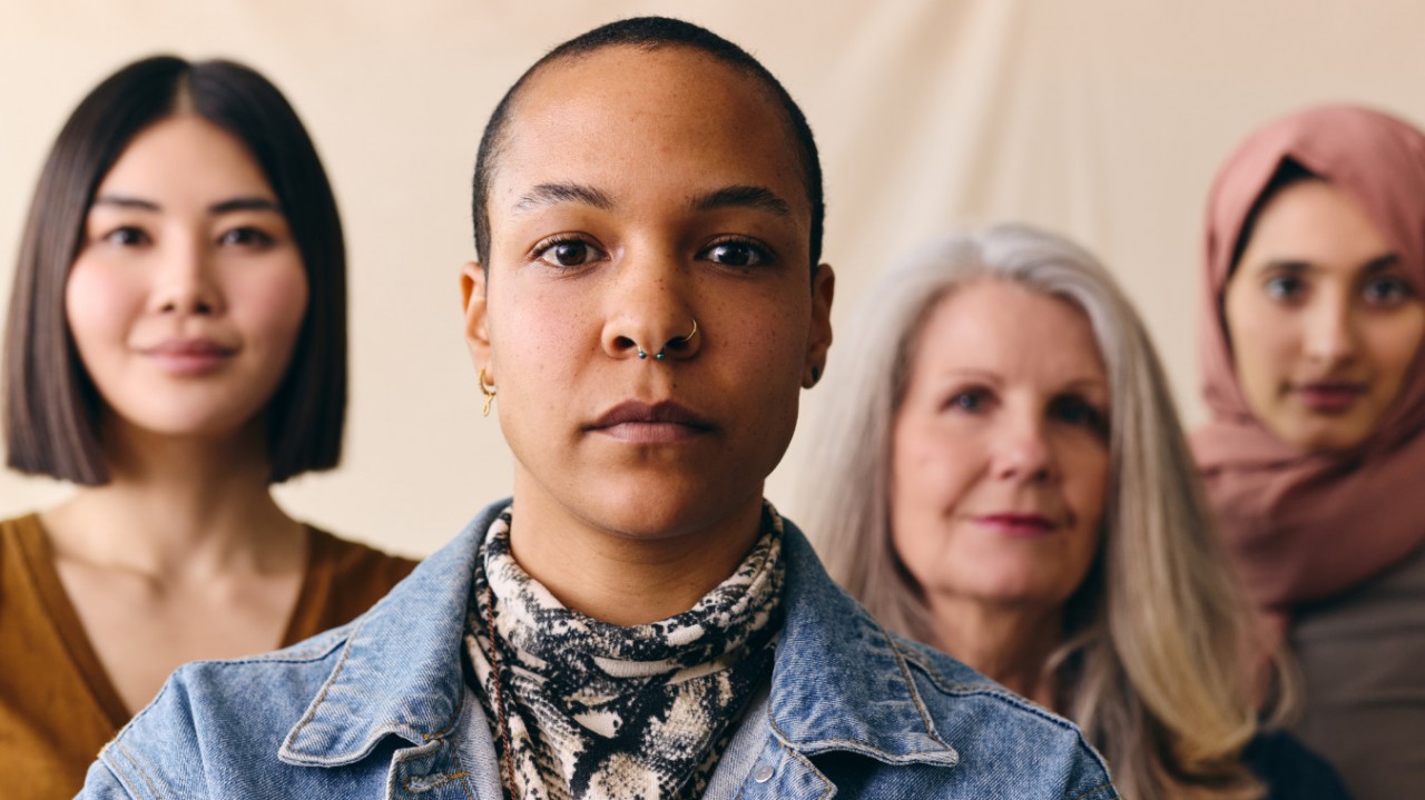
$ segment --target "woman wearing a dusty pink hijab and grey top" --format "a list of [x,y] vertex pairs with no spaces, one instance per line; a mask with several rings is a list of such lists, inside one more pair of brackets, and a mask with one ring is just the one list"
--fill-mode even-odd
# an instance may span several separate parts
[[1425,135],[1358,107],[1254,132],[1208,199],[1198,465],[1361,800],[1425,797]]

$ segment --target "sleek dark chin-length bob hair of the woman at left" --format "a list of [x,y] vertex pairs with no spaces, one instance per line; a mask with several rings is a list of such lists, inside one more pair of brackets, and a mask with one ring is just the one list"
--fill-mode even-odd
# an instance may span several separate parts
[[141,131],[197,114],[241,141],[292,229],[311,288],[292,363],[268,401],[271,480],[341,460],[346,411],[346,248],[336,199],[296,112],[266,78],[232,61],[171,56],[110,75],[60,131],[30,204],[4,344],[10,467],[86,485],[108,483],[103,400],[74,347],[64,288],[94,192]]

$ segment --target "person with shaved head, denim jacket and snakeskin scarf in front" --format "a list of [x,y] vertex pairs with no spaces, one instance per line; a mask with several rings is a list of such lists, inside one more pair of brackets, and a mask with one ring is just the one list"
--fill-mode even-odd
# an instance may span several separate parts
[[180,670],[88,797],[1117,797],[1070,723],[888,633],[762,497],[832,270],[761,64],[665,19],[561,44],[486,130],[475,221],[513,498],[353,625]]

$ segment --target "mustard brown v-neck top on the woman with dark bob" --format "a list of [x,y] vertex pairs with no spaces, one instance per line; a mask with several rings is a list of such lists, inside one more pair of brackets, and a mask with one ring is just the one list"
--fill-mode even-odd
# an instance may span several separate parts
[[[415,568],[305,528],[306,568],[279,646],[355,619]],[[40,517],[0,521],[0,793],[74,797],[128,717],[60,582]]]

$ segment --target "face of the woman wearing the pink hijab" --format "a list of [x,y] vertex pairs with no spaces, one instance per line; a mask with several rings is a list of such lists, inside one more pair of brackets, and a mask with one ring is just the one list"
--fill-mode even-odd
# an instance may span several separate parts
[[1375,430],[1425,333],[1425,303],[1399,255],[1325,181],[1267,202],[1223,306],[1247,406],[1312,451],[1354,447]]

